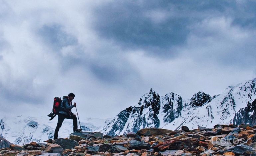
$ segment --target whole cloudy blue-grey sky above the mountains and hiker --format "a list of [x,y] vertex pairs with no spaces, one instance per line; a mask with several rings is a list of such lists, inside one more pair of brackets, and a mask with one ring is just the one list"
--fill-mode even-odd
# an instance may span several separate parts
[[220,94],[256,77],[255,8],[243,0],[0,0],[0,114],[47,115],[53,98],[70,92],[80,120],[112,118],[151,88],[185,99]]

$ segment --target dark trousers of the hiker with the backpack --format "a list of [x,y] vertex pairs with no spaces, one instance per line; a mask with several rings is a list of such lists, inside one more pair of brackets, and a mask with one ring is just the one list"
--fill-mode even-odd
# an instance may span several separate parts
[[62,122],[64,121],[64,119],[73,119],[73,130],[77,129],[77,118],[74,114],[71,114],[70,117],[64,114],[59,114],[58,115],[58,123],[57,126],[55,128],[55,132],[54,132],[54,140],[58,138],[58,132],[60,130],[60,127],[62,126]]

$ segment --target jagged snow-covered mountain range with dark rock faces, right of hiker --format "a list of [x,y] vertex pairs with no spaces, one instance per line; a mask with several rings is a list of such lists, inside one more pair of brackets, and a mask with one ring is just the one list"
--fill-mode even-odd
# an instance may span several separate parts
[[[194,129],[198,125],[213,127],[216,124],[233,122],[255,124],[255,120],[241,119],[248,110],[255,108],[255,102],[252,104],[256,98],[255,81],[256,79],[253,79],[229,86],[221,94],[213,97],[198,92],[187,100],[172,92],[160,97],[151,89],[142,96],[137,105],[129,107],[131,111],[119,113],[101,132],[120,135],[146,127],[175,130],[183,125]],[[255,112],[248,113],[254,115]]]

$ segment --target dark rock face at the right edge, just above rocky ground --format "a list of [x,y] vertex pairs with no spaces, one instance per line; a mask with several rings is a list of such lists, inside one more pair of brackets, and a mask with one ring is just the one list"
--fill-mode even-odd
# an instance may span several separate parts
[[233,119],[233,124],[256,124],[256,99],[252,103],[247,103],[245,108],[241,108]]

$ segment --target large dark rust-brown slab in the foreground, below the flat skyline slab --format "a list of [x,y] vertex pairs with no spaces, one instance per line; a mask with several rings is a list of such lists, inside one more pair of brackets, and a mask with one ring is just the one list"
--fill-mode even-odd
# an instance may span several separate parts
[[179,150],[184,148],[190,148],[191,141],[189,140],[171,140],[163,142],[162,144],[153,146],[154,151],[165,151],[165,150]]

